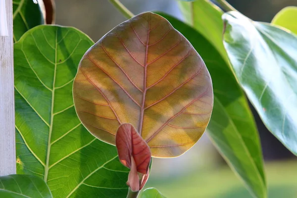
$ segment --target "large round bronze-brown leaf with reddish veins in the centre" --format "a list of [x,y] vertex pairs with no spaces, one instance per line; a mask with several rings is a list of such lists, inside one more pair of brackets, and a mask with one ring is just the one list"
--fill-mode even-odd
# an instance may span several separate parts
[[131,123],[155,157],[191,148],[213,105],[203,60],[166,19],[151,12],[118,25],[89,49],[73,89],[77,114],[93,135],[114,144],[118,126]]

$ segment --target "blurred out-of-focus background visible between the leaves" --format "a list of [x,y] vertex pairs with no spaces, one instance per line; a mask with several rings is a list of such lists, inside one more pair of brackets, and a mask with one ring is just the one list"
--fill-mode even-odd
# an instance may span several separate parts
[[[134,14],[159,10],[183,20],[176,0],[121,2]],[[264,22],[270,22],[285,6],[297,6],[297,0],[229,2],[249,18]],[[56,0],[56,24],[76,27],[95,42],[125,20],[108,0]],[[269,198],[297,198],[297,157],[268,132],[253,108],[252,111],[261,138]],[[178,158],[154,159],[146,187],[157,188],[167,198],[252,198],[207,134]]]

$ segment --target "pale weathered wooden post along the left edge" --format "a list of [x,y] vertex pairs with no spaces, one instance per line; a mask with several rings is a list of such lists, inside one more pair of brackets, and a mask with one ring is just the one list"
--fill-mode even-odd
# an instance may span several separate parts
[[8,36],[0,36],[0,176],[16,173],[12,0],[4,1]]

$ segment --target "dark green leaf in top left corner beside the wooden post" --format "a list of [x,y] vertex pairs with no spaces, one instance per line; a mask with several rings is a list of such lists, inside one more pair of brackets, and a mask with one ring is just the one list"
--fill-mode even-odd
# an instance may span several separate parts
[[29,29],[44,24],[39,4],[33,0],[13,0],[13,41],[18,41]]

